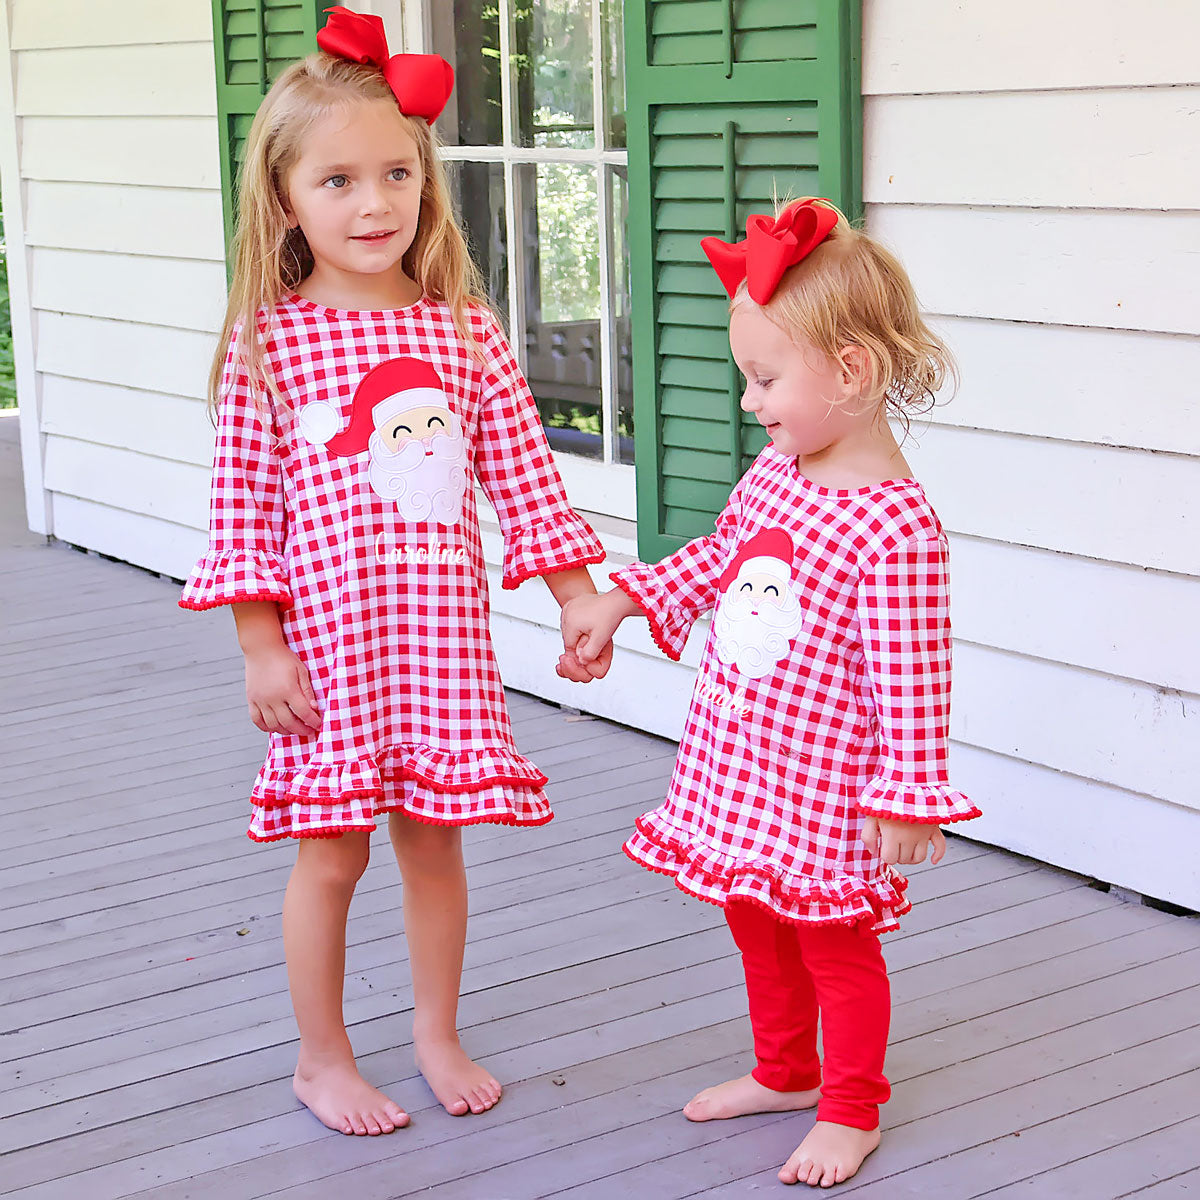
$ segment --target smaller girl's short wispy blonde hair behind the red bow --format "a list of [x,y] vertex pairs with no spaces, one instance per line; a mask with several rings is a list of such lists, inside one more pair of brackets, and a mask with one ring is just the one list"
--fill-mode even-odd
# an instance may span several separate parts
[[[790,268],[762,311],[793,342],[836,359],[846,346],[866,355],[864,406],[882,403],[907,430],[934,407],[936,392],[958,367],[946,343],[925,324],[900,260],[838,214],[829,236]],[[780,211],[787,205],[780,206]],[[752,301],[743,284],[731,308]]]

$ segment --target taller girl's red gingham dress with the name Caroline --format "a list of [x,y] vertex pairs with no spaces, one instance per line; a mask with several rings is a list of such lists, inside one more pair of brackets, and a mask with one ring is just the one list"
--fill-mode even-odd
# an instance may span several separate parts
[[440,824],[550,821],[546,776],[512,742],[474,490],[455,526],[406,521],[368,486],[367,451],[330,454],[296,420],[299,407],[319,400],[337,406],[344,425],[367,371],[422,359],[462,422],[467,479],[478,476],[499,517],[503,586],[601,562],[599,540],[566,502],[504,335],[491,313],[472,312],[480,364],[449,307],[428,299],[348,312],[289,296],[272,319],[268,365],[286,403],[260,397],[259,415],[230,344],[210,545],[180,600],[185,608],[276,601],[283,636],[312,677],[320,732],[271,734],[250,836],[373,829],[389,810]]

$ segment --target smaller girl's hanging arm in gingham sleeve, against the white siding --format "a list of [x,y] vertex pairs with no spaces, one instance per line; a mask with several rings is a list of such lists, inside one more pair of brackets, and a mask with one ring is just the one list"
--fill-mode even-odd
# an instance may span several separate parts
[[949,785],[950,608],[944,540],[882,553],[858,584],[858,620],[878,722],[880,767],[859,797],[864,841],[887,863],[919,863],[937,828],[979,816]]

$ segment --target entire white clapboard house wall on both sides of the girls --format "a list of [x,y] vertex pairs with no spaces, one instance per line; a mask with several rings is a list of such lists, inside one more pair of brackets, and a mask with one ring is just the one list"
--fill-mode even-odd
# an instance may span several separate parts
[[[418,49],[422,6],[373,10]],[[210,6],[4,12],[30,522],[181,575],[204,542],[223,301]],[[1117,0],[864,0],[868,222],[962,367],[912,461],[953,541],[954,769],[986,814],[970,832],[1190,907],[1196,44],[1190,0],[1147,0],[1136,22]],[[596,523],[610,565],[626,560],[632,527]],[[674,665],[629,623],[612,678],[578,688],[553,673],[546,589],[493,582],[512,686],[678,734],[702,630]]]

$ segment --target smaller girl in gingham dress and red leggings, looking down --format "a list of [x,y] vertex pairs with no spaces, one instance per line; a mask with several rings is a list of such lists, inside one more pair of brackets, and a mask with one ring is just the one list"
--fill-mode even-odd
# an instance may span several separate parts
[[[703,246],[732,299],[742,408],[770,444],[707,538],[563,611],[571,676],[644,613],[678,659],[715,607],[667,802],[626,853],[725,908],[757,1066],[692,1121],[816,1106],[779,1172],[829,1187],[878,1145],[895,863],[979,815],[947,782],[946,535],[888,425],[949,368],[900,264],[826,200]],[[582,641],[581,641],[582,640]],[[817,1057],[817,1016],[824,1062]]]

